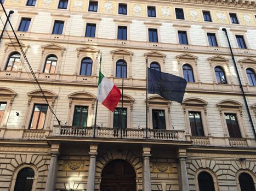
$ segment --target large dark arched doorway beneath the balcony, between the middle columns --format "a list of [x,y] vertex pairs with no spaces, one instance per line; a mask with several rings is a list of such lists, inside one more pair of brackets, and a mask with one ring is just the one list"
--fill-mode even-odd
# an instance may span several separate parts
[[135,170],[126,160],[107,163],[101,172],[100,191],[136,191]]

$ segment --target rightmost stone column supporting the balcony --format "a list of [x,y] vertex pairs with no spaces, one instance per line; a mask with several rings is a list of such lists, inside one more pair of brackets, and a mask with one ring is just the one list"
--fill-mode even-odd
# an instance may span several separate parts
[[179,176],[179,187],[181,191],[189,191],[189,178],[187,177],[186,168],[186,150],[180,149],[178,156],[178,176]]

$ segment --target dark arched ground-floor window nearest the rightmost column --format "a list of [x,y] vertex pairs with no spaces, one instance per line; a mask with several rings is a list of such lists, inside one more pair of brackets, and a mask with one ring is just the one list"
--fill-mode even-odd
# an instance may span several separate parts
[[200,191],[215,191],[213,177],[208,172],[200,172],[198,175],[198,186]]

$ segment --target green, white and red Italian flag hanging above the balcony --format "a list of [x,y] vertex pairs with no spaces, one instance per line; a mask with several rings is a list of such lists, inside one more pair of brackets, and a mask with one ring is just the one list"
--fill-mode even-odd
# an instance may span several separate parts
[[97,100],[113,112],[120,99],[120,89],[118,89],[115,84],[107,79],[107,77],[105,77],[100,71]]

